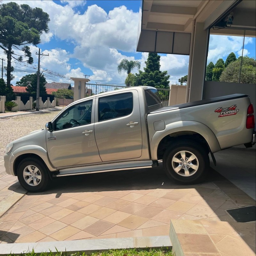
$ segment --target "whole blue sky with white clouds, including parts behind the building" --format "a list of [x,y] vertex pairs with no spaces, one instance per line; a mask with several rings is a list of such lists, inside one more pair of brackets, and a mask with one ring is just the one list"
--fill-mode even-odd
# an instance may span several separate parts
[[[11,1],[4,0],[3,3]],[[147,52],[136,52],[140,0],[21,0],[12,1],[42,8],[51,21],[48,34],[43,33],[41,43],[29,45],[34,58],[32,65],[12,61],[15,68],[15,85],[22,76],[37,70],[38,48],[49,54],[40,59],[41,70],[48,83],[71,83],[70,77],[84,77],[91,83],[124,85],[127,74],[118,74],[117,66],[122,59],[138,60],[141,70],[145,67]],[[224,61],[230,52],[241,55],[243,37],[210,36],[207,63]],[[255,57],[255,38],[245,38],[244,55]],[[15,49],[13,49],[15,50]],[[15,51],[15,53],[18,53]],[[188,56],[160,54],[160,70],[168,71],[170,84],[188,74]],[[0,51],[0,58],[6,56]],[[6,66],[6,62],[4,62]],[[138,72],[134,69],[132,73]],[[6,77],[4,77],[6,79]]]

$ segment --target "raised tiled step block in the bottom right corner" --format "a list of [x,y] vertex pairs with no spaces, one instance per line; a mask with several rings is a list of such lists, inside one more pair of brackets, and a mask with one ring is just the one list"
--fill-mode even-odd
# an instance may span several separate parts
[[171,220],[175,255],[254,256],[255,223]]

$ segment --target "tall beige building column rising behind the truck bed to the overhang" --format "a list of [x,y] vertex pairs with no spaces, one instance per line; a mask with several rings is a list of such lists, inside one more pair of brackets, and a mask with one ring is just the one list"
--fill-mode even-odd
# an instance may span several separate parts
[[189,86],[188,102],[203,99],[208,33],[208,29],[204,30],[204,23],[196,22],[190,84],[187,85]]

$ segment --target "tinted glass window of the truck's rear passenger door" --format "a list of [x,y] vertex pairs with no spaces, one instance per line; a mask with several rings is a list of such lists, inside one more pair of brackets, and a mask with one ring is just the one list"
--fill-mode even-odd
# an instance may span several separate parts
[[116,94],[99,99],[99,121],[127,116],[132,113],[132,93]]

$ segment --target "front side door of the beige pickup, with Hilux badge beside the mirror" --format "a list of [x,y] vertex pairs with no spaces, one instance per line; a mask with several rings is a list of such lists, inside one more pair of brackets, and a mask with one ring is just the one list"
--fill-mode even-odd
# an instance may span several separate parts
[[94,136],[95,99],[66,109],[46,131],[49,159],[54,167],[102,162]]

